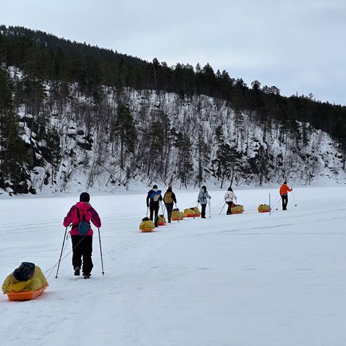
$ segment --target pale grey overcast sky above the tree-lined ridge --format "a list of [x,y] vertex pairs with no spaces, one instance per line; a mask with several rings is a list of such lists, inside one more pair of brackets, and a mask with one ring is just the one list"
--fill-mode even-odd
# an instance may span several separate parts
[[0,23],[346,104],[345,0],[0,0]]

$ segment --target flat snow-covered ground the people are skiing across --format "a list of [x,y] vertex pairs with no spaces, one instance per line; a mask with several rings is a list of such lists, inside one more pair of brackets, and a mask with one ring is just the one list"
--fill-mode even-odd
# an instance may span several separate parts
[[[154,233],[138,232],[145,195],[92,196],[104,277],[96,233],[91,280],[69,254],[36,300],[0,298],[1,345],[346,345],[346,187],[295,188],[296,207],[290,195],[289,210],[259,214],[268,192],[236,190],[245,212],[226,216],[224,191],[210,191],[210,219]],[[197,193],[177,191],[178,206]],[[1,280],[23,261],[57,262],[76,200],[0,200]]]

